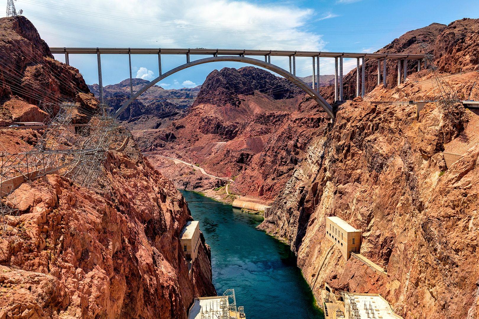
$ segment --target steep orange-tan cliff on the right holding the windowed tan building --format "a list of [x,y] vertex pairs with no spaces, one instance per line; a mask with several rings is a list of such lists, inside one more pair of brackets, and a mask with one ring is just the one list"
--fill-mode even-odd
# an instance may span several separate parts
[[[479,146],[445,167],[444,145],[456,123],[428,104],[415,107],[346,102],[335,125],[312,141],[305,160],[276,198],[261,228],[291,244],[314,294],[327,281],[380,293],[404,318],[477,318]],[[467,111],[461,117],[468,130]],[[326,238],[339,216],[363,231],[361,253],[387,268],[347,262]],[[318,276],[318,278],[316,278]]]

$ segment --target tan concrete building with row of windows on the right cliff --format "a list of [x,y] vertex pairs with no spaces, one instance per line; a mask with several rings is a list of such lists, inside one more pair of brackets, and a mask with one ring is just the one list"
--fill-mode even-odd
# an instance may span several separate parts
[[326,217],[326,237],[341,250],[345,260],[351,257],[351,252],[359,253],[361,231],[339,217]]

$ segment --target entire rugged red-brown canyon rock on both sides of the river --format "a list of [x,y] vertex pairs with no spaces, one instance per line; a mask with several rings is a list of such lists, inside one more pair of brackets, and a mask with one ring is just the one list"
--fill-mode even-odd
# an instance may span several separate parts
[[[67,99],[75,124],[99,110],[98,85],[55,60],[26,18],[0,19],[0,34],[2,122],[44,121],[46,102]],[[479,20],[462,19],[407,32],[378,53],[434,55],[448,89],[477,100],[478,40]],[[356,70],[346,74],[333,121],[285,78],[252,66],[214,70],[197,88],[154,86],[120,116],[133,139],[107,152],[90,189],[51,174],[12,193],[19,216],[0,230],[0,318],[187,318],[194,297],[215,296],[204,236],[191,273],[182,253],[193,218],[177,188],[232,197],[194,165],[231,178],[231,194],[271,204],[258,228],[289,246],[316,300],[315,283],[327,282],[379,293],[405,319],[479,318],[479,113],[435,102],[416,113],[406,101],[435,100],[438,89],[430,69],[409,63],[397,85],[388,61],[387,85],[376,86],[377,63],[366,61],[362,98]],[[332,103],[331,81],[321,78],[320,94]],[[134,79],[134,89],[146,83]],[[125,80],[105,97],[117,110],[129,90]],[[0,145],[21,152],[39,137],[0,130]],[[446,163],[445,150],[458,160]],[[330,250],[331,216],[362,231],[360,253],[386,275]]]

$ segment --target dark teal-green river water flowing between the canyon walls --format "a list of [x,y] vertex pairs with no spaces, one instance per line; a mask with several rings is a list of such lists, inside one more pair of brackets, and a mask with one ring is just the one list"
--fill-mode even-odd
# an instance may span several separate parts
[[211,246],[218,294],[235,289],[236,303],[244,306],[248,319],[324,318],[289,246],[255,229],[261,216],[194,192],[182,193]]

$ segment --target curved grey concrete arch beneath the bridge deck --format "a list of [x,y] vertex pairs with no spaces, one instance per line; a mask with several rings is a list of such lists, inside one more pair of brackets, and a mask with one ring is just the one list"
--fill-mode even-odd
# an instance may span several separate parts
[[197,66],[197,65],[205,64],[205,63],[211,63],[211,62],[242,62],[242,63],[252,64],[254,66],[261,66],[261,67],[264,67],[265,69],[273,71],[273,72],[285,77],[290,82],[295,84],[297,87],[299,87],[303,91],[305,91],[311,98],[313,98],[319,104],[320,107],[322,107],[326,111],[326,113],[328,113],[328,115],[331,117],[331,119],[334,119],[334,113],[332,112],[331,105],[328,102],[326,102],[326,100],[323,99],[323,97],[321,97],[318,94],[318,92],[316,92],[315,90],[310,88],[308,86],[308,84],[306,84],[299,77],[297,77],[297,76],[289,73],[285,69],[283,69],[279,66],[275,66],[271,63],[267,63],[267,62],[264,62],[264,61],[261,61],[261,60],[258,60],[258,59],[252,59],[252,58],[249,58],[249,57],[230,56],[230,55],[207,57],[207,58],[204,58],[204,59],[199,59],[199,60],[195,60],[195,61],[192,61],[192,62],[188,62],[188,63],[185,63],[181,66],[177,66],[177,67],[171,69],[170,71],[168,71],[168,72],[160,75],[159,77],[155,78],[154,80],[152,80],[146,86],[141,88],[134,96],[132,96],[127,101],[125,101],[125,103],[123,103],[121,108],[118,109],[114,113],[114,117],[117,118],[128,107],[128,105],[130,105],[131,102],[133,102],[135,99],[137,99],[148,88],[151,88],[153,85],[157,84],[158,82],[160,82],[165,77],[169,77],[169,76],[175,74],[176,72],[184,70],[188,67]]

